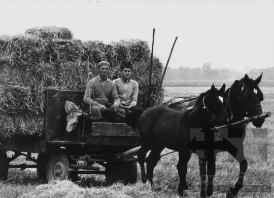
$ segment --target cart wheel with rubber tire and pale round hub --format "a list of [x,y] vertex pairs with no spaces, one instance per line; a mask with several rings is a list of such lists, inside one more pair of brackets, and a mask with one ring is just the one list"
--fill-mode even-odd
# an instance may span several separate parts
[[71,164],[70,157],[63,151],[51,155],[47,165],[48,181],[77,179],[77,173],[68,171]]

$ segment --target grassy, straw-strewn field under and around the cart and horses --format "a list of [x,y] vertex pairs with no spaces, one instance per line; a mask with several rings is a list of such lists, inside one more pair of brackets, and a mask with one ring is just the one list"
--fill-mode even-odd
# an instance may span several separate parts
[[[210,85],[211,86],[211,85]],[[176,96],[195,96],[206,91],[208,87],[166,87],[165,101]],[[220,85],[219,85],[220,86]],[[230,86],[230,84],[227,84]],[[218,86],[217,86],[218,87]],[[262,128],[267,133],[261,135],[252,124],[247,127],[244,142],[245,155],[249,167],[244,180],[244,188],[238,197],[273,197],[274,166],[274,88],[260,87],[264,93],[261,103],[263,111],[270,111],[272,116],[266,118]],[[163,153],[169,152],[165,149]],[[9,152],[12,154],[12,152]],[[21,164],[21,157],[15,164]],[[144,188],[138,165],[138,182],[124,186],[120,183],[107,187],[104,175],[80,175],[78,183],[59,181],[46,184],[37,178],[35,169],[10,169],[7,181],[0,182],[0,197],[178,197],[179,176],[176,165],[177,153],[163,156],[154,170],[152,191]],[[24,161],[25,163],[25,161]],[[239,165],[227,152],[218,153],[216,176],[214,179],[214,197],[225,197],[225,192],[234,186],[237,180]],[[188,164],[188,186],[191,197],[199,197],[200,178],[196,154]]]

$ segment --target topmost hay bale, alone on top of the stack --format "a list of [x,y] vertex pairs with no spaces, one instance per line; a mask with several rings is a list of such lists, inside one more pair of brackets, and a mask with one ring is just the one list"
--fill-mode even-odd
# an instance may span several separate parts
[[43,39],[49,38],[62,38],[62,39],[72,39],[73,33],[71,30],[65,27],[35,27],[30,28],[25,31],[25,34],[36,35]]

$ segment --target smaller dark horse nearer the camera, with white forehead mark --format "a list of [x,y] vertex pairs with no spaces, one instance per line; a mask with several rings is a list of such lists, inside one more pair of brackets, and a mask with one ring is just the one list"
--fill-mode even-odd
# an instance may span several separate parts
[[[183,196],[184,193],[187,194],[186,174],[187,164],[191,157],[191,150],[188,147],[191,142],[191,131],[197,128],[203,129],[211,121],[213,115],[217,116],[222,123],[226,123],[228,114],[221,102],[224,91],[225,85],[220,90],[215,89],[212,85],[210,90],[200,94],[194,108],[183,113],[167,106],[152,107],[142,113],[139,120],[142,146],[137,155],[142,171],[142,181],[145,183],[148,180],[150,189],[153,183],[154,167],[159,161],[160,153],[166,147],[179,152],[177,169],[180,184],[178,192],[180,196]],[[130,124],[132,125],[132,123]],[[150,149],[146,174],[144,163],[146,153]]]

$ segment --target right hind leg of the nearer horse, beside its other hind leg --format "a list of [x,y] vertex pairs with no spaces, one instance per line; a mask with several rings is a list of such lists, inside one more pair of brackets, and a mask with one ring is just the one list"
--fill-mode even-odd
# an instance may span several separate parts
[[147,158],[147,178],[148,178],[148,189],[151,190],[151,186],[153,184],[153,170],[160,160],[160,154],[164,146],[162,145],[154,145],[151,149],[151,152]]

